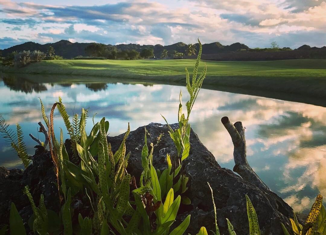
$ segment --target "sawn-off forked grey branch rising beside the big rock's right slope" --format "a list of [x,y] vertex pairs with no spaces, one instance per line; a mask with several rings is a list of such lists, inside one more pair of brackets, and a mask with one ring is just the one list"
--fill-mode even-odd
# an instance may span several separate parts
[[234,145],[233,158],[235,166],[233,167],[233,171],[238,173],[245,181],[254,184],[258,188],[271,191],[247,161],[247,149],[242,122],[236,122],[233,125],[229,117],[222,117],[221,122],[229,132]]

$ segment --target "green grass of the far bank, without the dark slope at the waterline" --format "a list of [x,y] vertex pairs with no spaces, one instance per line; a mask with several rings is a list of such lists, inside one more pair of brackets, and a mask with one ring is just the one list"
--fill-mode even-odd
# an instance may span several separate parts
[[[185,67],[194,60],[59,60],[42,61],[4,72],[41,75],[78,75],[140,79],[154,83],[185,83]],[[310,98],[326,98],[326,60],[214,62],[206,61],[205,86],[283,92]],[[201,63],[203,67],[203,63]],[[191,72],[191,71],[190,71]],[[55,82],[55,81],[53,81]]]

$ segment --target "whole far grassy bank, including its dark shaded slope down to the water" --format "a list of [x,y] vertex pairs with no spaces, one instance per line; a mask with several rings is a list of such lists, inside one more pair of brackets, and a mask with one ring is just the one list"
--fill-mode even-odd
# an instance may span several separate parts
[[[186,60],[186,62],[185,60],[171,60],[164,63],[146,60],[105,60],[101,62],[97,60],[43,61],[32,63],[23,68],[2,68],[2,71],[6,74],[30,76],[31,79],[28,80],[31,82],[43,83],[46,83],[46,79],[33,79],[33,76],[82,76],[82,78],[77,78],[74,81],[110,82],[114,79],[115,82],[128,82],[129,80],[129,82],[135,83],[183,86],[185,84],[185,72],[180,67],[187,65],[188,61],[190,63],[193,62],[192,60]],[[297,66],[300,67],[304,64],[303,62],[307,61],[311,62],[311,60],[302,60]],[[171,62],[175,63],[177,67],[173,71],[170,71],[173,68]],[[293,61],[289,62],[293,64]],[[326,60],[318,60],[317,62],[325,62],[324,69],[313,68],[314,65],[311,62],[309,65],[312,67],[311,69],[307,69],[309,66],[306,66],[304,71],[302,71],[303,69],[295,68],[292,65],[290,70],[284,68],[283,73],[280,72],[282,70],[279,67],[282,66],[282,63],[279,61],[277,61],[278,68],[271,67],[272,65],[275,66],[274,61],[263,62],[263,65],[260,67],[258,65],[261,65],[261,62],[206,62],[208,76],[205,79],[203,88],[326,107],[326,92],[324,89],[326,87]],[[203,62],[201,67],[203,67],[202,65]],[[246,65],[250,65],[251,68],[246,67]],[[220,67],[223,66],[224,68],[219,73]],[[264,67],[265,70],[262,70],[261,67]],[[233,68],[234,70],[232,70]],[[143,74],[144,71],[147,71],[147,75]],[[167,71],[169,73],[166,73]],[[165,73],[166,75],[162,75]],[[251,76],[249,75],[250,73],[252,74]],[[266,76],[267,74],[269,76]],[[307,76],[309,74],[310,76]],[[53,81],[52,77],[49,80],[51,82],[63,82],[61,78]]]

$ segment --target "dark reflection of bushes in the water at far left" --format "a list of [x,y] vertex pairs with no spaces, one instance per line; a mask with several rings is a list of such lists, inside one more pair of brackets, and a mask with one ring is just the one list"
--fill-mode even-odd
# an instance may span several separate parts
[[10,90],[22,91],[26,94],[48,90],[43,83],[33,83],[14,76],[3,76],[1,80],[3,80],[4,84],[9,87]]

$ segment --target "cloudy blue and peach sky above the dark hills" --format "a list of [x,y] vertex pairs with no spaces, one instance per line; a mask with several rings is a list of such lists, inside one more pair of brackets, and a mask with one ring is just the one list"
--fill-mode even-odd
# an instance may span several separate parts
[[0,49],[62,39],[104,44],[326,45],[326,0],[0,0]]

